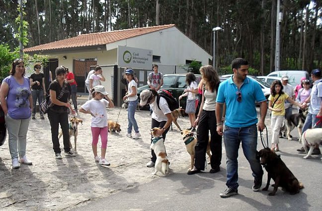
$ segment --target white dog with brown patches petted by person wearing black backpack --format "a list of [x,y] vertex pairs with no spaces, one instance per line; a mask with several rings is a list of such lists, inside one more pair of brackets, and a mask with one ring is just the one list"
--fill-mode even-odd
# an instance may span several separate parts
[[160,128],[153,128],[151,129],[152,143],[150,148],[154,150],[155,154],[157,155],[157,160],[155,164],[155,172],[154,175],[157,175],[158,171],[160,171],[163,175],[167,175],[169,173],[169,161],[166,156],[165,146],[163,143],[163,138],[156,137],[156,132],[161,130]]

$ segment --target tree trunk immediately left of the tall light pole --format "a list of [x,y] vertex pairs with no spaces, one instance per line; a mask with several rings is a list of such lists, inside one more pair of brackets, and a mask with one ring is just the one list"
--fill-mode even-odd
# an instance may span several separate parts
[[270,38],[270,58],[269,58],[269,72],[274,70],[274,52],[275,52],[275,29],[276,29],[276,0],[272,0],[271,8],[271,38]]

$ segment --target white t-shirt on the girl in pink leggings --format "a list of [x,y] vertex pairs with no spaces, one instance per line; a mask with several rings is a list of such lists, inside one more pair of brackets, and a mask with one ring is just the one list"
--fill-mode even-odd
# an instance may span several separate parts
[[90,111],[95,117],[92,117],[90,127],[104,128],[107,127],[107,113],[106,106],[108,101],[105,99],[95,100],[91,99],[81,106],[85,111]]

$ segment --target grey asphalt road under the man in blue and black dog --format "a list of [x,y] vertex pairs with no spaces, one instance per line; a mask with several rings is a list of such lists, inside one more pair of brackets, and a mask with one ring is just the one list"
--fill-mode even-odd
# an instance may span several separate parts
[[[297,137],[296,130],[292,135]],[[270,137],[269,137],[270,138]],[[294,175],[304,184],[299,194],[290,195],[279,188],[276,196],[268,192],[251,190],[253,177],[248,162],[240,149],[239,195],[222,199],[219,194],[226,189],[226,159],[223,153],[222,170],[216,174],[205,173],[188,176],[185,170],[133,189],[119,192],[73,210],[108,211],[321,211],[322,210],[322,161],[320,156],[303,159],[296,149],[298,141],[280,139],[282,160]],[[262,148],[259,141],[258,148]],[[188,162],[188,161],[187,161]],[[263,186],[267,172],[264,170]],[[269,188],[272,190],[272,187]]]

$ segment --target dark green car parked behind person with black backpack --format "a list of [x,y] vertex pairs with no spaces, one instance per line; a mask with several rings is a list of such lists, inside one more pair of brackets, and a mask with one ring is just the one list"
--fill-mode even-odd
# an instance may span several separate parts
[[[195,74],[197,78],[197,83],[201,80],[201,74]],[[182,74],[165,74],[163,75],[163,85],[161,86],[161,89],[165,89],[169,91],[175,99],[179,99],[179,96],[183,94],[184,89],[187,88],[187,84],[185,82],[186,80],[186,73]],[[138,88],[138,97],[140,101],[140,93],[145,90],[149,89],[149,85],[144,85]],[[179,102],[179,105],[185,109],[186,106],[186,97],[182,97],[182,99]],[[149,109],[149,105],[145,105],[143,107],[144,109]]]

